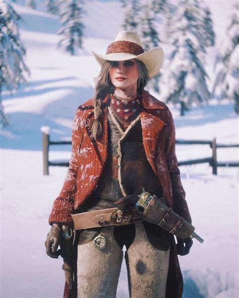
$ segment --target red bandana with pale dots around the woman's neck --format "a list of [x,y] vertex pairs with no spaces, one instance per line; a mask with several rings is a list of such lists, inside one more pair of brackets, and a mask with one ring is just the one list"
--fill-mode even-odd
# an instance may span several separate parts
[[111,94],[110,107],[124,129],[127,129],[140,113],[139,99],[140,96],[138,94],[130,98],[119,98]]

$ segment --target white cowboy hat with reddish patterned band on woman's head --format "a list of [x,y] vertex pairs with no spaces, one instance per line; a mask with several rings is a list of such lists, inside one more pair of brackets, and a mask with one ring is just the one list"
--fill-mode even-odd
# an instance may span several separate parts
[[149,79],[159,73],[163,64],[163,49],[156,46],[148,51],[144,51],[140,36],[135,32],[121,31],[107,47],[105,55],[91,51],[96,61],[102,66],[105,61],[124,61],[138,59],[142,61],[148,72]]

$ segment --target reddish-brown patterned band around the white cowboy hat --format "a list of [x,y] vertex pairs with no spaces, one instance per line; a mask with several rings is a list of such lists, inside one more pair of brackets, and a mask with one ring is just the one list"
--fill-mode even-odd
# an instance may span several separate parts
[[133,55],[140,55],[144,52],[144,49],[137,43],[126,40],[118,40],[113,41],[109,44],[109,46],[107,47],[106,55],[112,53],[128,53]]

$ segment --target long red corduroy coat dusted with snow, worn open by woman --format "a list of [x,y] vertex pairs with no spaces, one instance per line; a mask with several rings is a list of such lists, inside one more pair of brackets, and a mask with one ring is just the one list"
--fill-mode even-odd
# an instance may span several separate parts
[[[106,103],[109,96],[103,100]],[[191,222],[185,200],[180,171],[175,156],[175,129],[171,112],[161,101],[147,91],[141,94],[140,113],[143,145],[147,159],[158,176],[166,203],[179,215]],[[55,199],[49,223],[64,222],[73,225],[71,214],[95,190],[107,157],[107,106],[101,118],[103,135],[100,140],[90,138],[94,120],[92,99],[81,105],[76,113],[72,133],[70,166],[61,193]],[[181,297],[182,275],[172,238],[166,297]],[[174,290],[171,289],[174,287]]]

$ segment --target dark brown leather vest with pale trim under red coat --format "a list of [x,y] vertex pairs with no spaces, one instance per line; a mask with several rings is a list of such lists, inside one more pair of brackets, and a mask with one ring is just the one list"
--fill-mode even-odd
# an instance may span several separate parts
[[88,200],[94,205],[88,205],[87,211],[112,208],[113,202],[126,195],[139,195],[143,188],[162,196],[158,177],[144,150],[140,118],[136,118],[124,132],[109,112],[107,159],[97,189],[92,194],[94,198]]

